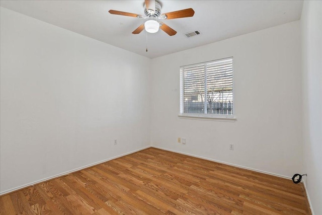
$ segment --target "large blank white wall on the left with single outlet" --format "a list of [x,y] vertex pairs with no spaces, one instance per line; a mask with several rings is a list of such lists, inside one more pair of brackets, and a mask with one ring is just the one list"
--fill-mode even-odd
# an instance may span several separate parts
[[149,146],[149,63],[1,8],[1,192]]

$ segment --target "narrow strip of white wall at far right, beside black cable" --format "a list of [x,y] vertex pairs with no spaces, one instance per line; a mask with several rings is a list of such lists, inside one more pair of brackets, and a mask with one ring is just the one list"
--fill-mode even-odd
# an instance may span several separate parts
[[303,163],[312,211],[322,214],[322,2],[304,1],[301,16],[303,66]]

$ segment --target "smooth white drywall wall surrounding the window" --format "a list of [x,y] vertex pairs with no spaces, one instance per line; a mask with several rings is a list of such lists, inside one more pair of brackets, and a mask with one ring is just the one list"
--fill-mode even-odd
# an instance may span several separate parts
[[[300,51],[296,21],[152,59],[151,144],[286,177],[302,172]],[[225,57],[233,57],[236,121],[178,117],[179,67]]]

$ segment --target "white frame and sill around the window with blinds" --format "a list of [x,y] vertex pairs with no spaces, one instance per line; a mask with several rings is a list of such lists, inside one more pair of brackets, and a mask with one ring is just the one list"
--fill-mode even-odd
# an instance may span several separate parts
[[[232,112],[233,114],[213,114],[213,113],[184,113],[184,68],[193,67],[193,66],[206,66],[206,64],[220,62],[223,60],[232,60]],[[206,62],[200,62],[195,64],[189,64],[180,66],[180,112],[178,116],[184,119],[197,119],[197,120],[217,120],[217,121],[235,121],[235,102],[234,102],[234,67],[233,67],[233,57],[225,57],[216,60],[210,60]]]

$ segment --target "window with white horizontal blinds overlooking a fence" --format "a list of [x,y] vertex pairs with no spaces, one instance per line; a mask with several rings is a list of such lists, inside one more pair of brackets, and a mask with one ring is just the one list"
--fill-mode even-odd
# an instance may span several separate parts
[[232,57],[180,67],[180,115],[233,117]]

